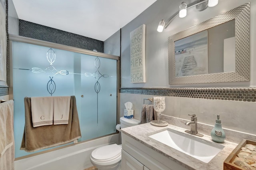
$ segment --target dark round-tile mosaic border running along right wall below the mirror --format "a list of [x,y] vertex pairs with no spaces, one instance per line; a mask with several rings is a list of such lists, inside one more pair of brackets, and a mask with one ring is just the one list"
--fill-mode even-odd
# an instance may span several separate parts
[[256,102],[256,87],[171,88],[144,87],[121,88],[120,93],[217,99]]

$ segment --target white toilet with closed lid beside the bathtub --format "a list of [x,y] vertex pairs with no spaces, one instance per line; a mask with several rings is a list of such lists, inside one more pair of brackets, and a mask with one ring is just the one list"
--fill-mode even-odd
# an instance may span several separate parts
[[[136,119],[126,119],[120,117],[121,128],[139,125]],[[98,170],[120,170],[121,169],[121,149],[122,145],[109,144],[101,146],[92,151],[91,162]]]

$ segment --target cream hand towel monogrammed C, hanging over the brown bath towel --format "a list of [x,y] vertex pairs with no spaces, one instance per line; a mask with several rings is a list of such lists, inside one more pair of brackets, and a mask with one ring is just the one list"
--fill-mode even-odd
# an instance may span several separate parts
[[31,97],[31,113],[33,127],[52,125],[53,99],[52,97]]

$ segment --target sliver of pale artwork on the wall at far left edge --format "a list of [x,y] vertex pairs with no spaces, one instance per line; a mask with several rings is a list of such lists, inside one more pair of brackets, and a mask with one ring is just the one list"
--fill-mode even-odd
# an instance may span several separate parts
[[6,84],[6,2],[0,0],[0,85]]

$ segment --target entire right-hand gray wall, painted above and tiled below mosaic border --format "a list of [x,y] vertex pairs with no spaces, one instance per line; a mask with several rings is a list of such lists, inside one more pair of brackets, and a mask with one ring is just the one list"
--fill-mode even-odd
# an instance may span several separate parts
[[[233,83],[209,83],[193,85],[168,84],[168,36],[199,24],[214,16],[251,2],[250,20],[250,81]],[[161,19],[169,20],[181,0],[157,0],[140,16],[122,28],[121,41],[121,87],[247,87],[256,86],[256,1],[255,0],[219,0],[219,4],[198,12],[188,10],[185,18],[176,17],[162,33],[156,31]],[[130,83],[130,32],[138,26],[146,25],[146,83]],[[110,37],[112,38],[112,37]],[[110,41],[110,40],[108,40]],[[112,40],[114,41],[114,40]],[[134,118],[140,120],[144,98],[151,95],[120,93],[120,117],[124,115],[124,103],[134,104]],[[145,104],[152,104],[146,101]],[[186,97],[166,97],[166,109],[162,113],[182,119],[190,119],[189,113],[198,116],[198,122],[214,125],[216,114],[221,113],[222,125],[242,132],[256,134],[256,109],[254,102],[222,101],[210,99],[192,99]],[[214,115],[215,114],[215,115]],[[189,128],[189,127],[188,127]]]

